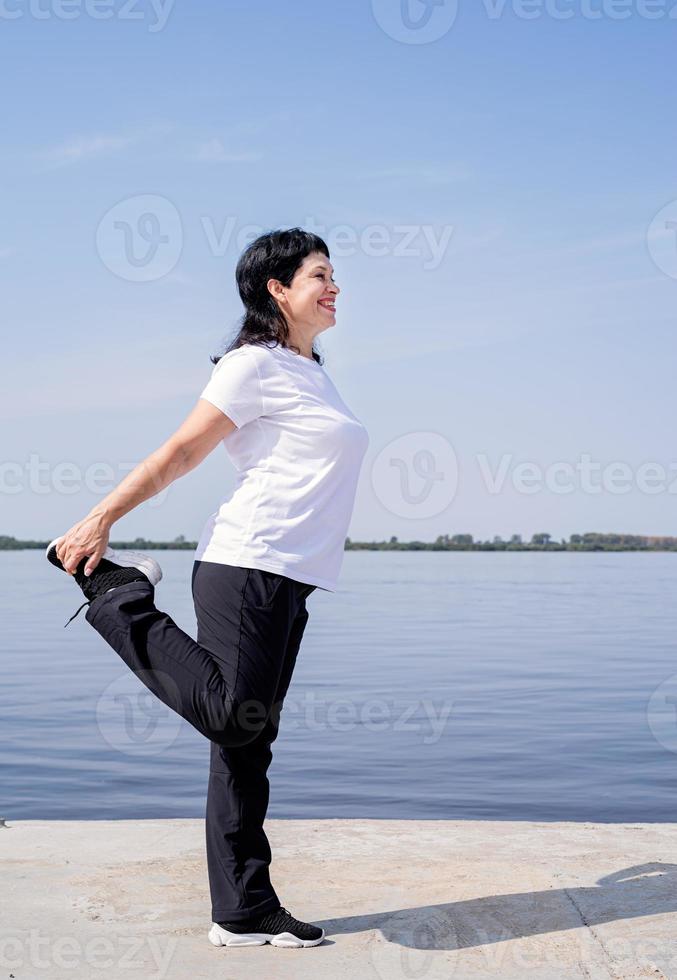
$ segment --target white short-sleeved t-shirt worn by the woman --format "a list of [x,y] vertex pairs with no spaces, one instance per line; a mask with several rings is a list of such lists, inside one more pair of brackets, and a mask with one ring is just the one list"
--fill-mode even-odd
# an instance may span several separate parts
[[200,397],[237,426],[223,440],[237,482],[207,521],[195,558],[335,592],[365,427],[317,361],[281,345],[224,354]]

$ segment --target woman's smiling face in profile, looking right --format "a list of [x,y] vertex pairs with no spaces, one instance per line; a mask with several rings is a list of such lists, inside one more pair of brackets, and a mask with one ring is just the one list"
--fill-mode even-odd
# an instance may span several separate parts
[[335,301],[341,290],[334,267],[322,252],[312,252],[296,270],[291,285],[268,280],[268,289],[289,322],[290,333],[312,343],[313,337],[336,323]]

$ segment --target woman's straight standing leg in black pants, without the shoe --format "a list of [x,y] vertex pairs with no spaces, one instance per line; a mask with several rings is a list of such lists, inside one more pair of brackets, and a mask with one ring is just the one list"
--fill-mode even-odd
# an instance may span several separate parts
[[[271,850],[263,823],[268,809],[268,768],[279,718],[308,621],[305,599],[313,586],[289,582],[276,602],[292,603],[295,617],[273,709],[260,734],[247,745],[227,748],[212,742],[206,809],[207,867],[213,922],[240,922],[280,907],[270,882]],[[212,642],[211,625],[198,632]]]

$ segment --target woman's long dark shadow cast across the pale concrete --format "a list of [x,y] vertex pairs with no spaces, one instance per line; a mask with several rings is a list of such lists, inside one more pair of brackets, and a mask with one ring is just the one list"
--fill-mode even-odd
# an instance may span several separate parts
[[677,911],[677,864],[651,862],[605,875],[594,886],[487,895],[316,922],[328,937],[379,929],[411,949],[468,949],[581,926]]

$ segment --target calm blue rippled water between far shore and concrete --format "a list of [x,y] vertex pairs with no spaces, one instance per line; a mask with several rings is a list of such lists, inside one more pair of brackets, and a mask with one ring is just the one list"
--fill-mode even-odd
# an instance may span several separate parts
[[[192,552],[155,552],[195,635]],[[0,816],[204,815],[208,743],[0,553]],[[348,552],[317,590],[271,817],[677,819],[677,555]]]

